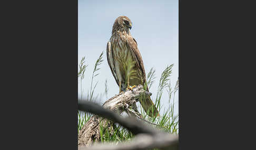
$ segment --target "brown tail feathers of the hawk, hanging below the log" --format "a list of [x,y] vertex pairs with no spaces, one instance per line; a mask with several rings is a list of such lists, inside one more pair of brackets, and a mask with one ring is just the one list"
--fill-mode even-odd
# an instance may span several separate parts
[[147,113],[147,115],[154,117],[159,116],[159,112],[157,111],[153,101],[150,96],[146,97],[146,99],[140,101],[142,108]]

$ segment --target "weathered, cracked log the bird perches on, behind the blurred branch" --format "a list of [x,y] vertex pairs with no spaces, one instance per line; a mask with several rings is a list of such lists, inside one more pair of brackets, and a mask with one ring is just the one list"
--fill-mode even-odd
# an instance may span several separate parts
[[[138,85],[132,91],[126,91],[119,93],[107,100],[102,107],[109,109],[118,114],[121,114],[127,108],[135,107],[136,100],[145,94],[150,94],[149,92],[144,91],[142,85]],[[85,123],[81,131],[78,133],[78,146],[89,146],[93,142],[100,142],[100,125],[104,128],[108,127],[108,130],[112,130],[112,122],[107,121],[106,119],[99,117],[98,115],[92,115],[91,118]]]

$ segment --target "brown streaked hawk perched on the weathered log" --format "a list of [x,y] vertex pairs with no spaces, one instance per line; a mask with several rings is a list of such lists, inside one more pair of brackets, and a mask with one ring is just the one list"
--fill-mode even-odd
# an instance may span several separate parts
[[[142,57],[130,29],[132,29],[132,22],[128,17],[117,17],[106,48],[107,62],[117,85],[119,85],[120,92],[132,89],[139,84],[146,84]],[[148,88],[146,90],[149,92]],[[140,103],[149,116],[159,115],[150,96],[141,100]]]

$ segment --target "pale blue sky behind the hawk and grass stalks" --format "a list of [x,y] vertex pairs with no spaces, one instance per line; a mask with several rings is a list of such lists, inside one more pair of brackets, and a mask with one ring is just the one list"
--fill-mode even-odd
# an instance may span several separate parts
[[[133,26],[131,34],[137,41],[146,73],[153,67],[156,80],[152,85],[151,99],[156,97],[157,85],[162,71],[167,65],[174,63],[171,83],[174,87],[179,77],[178,50],[178,0],[171,1],[84,1],[78,0],[78,63],[85,56],[88,64],[83,81],[84,95],[90,90],[94,63],[102,51],[103,63],[100,66],[99,81],[96,94],[104,93],[107,79],[109,93],[112,97],[119,92],[106,59],[106,44],[111,37],[114,20],[119,16],[127,16]],[[78,82],[79,83],[79,82]],[[78,97],[80,97],[80,83]],[[175,114],[178,113],[179,95],[175,95]],[[102,97],[105,101],[105,95]],[[164,90],[162,104],[168,109],[168,93]]]

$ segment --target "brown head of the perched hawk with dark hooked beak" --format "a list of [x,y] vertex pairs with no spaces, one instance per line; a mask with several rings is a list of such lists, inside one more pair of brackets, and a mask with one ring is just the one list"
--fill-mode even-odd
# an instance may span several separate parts
[[132,29],[132,22],[126,16],[119,16],[115,19],[113,30],[125,30],[127,33],[130,33],[130,29]]

